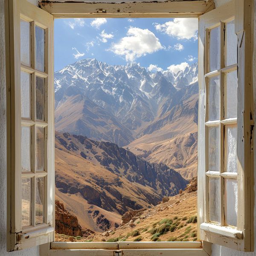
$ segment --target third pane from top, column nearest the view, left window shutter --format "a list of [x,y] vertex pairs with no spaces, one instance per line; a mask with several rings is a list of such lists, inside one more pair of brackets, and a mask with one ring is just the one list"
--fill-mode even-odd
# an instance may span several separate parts
[[44,128],[35,127],[35,170],[44,171]]

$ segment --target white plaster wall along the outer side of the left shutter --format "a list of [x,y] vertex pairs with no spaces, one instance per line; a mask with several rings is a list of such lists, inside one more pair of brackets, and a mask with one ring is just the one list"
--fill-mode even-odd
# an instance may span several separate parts
[[[37,5],[37,0],[29,0]],[[4,0],[0,0],[0,256],[39,256],[39,247],[6,252],[6,76]]]

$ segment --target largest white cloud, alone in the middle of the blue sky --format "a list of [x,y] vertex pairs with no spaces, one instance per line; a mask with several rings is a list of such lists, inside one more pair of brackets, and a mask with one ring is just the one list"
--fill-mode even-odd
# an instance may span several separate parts
[[124,55],[126,61],[134,61],[147,53],[164,48],[154,33],[148,29],[130,27],[126,35],[119,43],[112,44],[110,49],[117,55]]

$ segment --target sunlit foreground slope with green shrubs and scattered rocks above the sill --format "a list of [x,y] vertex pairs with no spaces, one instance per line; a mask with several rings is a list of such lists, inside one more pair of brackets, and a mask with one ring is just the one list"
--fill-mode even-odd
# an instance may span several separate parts
[[122,224],[104,233],[84,233],[82,238],[59,236],[56,241],[196,241],[197,178],[185,191],[165,197],[154,207],[125,212]]

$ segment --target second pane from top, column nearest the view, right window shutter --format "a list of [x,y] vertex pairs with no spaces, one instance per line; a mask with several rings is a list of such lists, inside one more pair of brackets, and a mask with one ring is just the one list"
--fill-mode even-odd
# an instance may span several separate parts
[[220,77],[209,78],[208,94],[208,119],[209,121],[220,119]]

